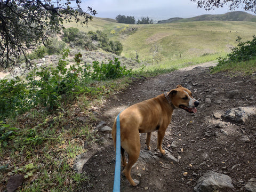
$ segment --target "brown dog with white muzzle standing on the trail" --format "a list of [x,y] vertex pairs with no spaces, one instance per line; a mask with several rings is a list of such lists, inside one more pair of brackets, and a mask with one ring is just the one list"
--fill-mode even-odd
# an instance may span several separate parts
[[[191,92],[178,85],[168,93],[158,95],[156,98],[142,101],[123,110],[119,115],[121,131],[121,154],[123,173],[132,186],[139,184],[138,180],[131,178],[131,168],[140,155],[140,134],[147,133],[146,149],[150,150],[149,142],[151,132],[157,130],[157,148],[165,155],[162,141],[165,130],[171,123],[172,112],[175,108],[185,109],[189,113],[196,113],[199,102],[192,97]],[[112,137],[116,148],[116,119],[112,128]],[[129,155],[126,163],[124,151]]]

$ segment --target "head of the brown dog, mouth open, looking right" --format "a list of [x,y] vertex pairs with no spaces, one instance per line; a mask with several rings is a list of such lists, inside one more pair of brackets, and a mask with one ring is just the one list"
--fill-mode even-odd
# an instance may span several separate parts
[[168,95],[174,107],[184,109],[188,111],[188,113],[197,112],[196,107],[199,105],[199,101],[194,99],[191,91],[185,87],[177,85],[177,87],[174,90],[171,90]]

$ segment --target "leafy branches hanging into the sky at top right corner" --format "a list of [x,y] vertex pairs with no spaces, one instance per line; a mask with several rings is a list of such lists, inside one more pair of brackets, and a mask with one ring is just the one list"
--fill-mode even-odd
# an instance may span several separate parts
[[203,7],[205,10],[213,10],[215,7],[223,7],[223,5],[229,5],[230,10],[235,10],[238,7],[241,7],[244,11],[251,11],[256,14],[256,1],[251,0],[190,0],[197,2],[197,7]]

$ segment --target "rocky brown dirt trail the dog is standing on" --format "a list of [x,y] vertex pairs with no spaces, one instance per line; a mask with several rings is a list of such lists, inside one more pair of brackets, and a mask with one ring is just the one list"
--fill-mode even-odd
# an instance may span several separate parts
[[[255,116],[249,117],[245,124],[238,124],[227,122],[218,114],[236,107],[255,107],[256,76],[211,74],[209,66],[213,65],[213,62],[203,63],[157,77],[133,79],[127,89],[108,98],[99,109],[97,118],[111,127],[123,109],[170,91],[178,84],[187,87],[200,101],[196,114],[175,109],[167,127],[163,148],[179,162],[167,161],[159,155],[157,132],[153,132],[151,151],[158,158],[154,162],[139,158],[131,171],[132,178],[140,181],[139,186],[131,187],[121,177],[121,191],[193,191],[201,175],[211,170],[232,179],[234,189],[219,191],[245,191],[245,184],[255,178]],[[89,181],[83,183],[82,191],[113,190],[113,140],[109,133],[100,134],[104,145],[83,166]],[[249,140],[244,141],[245,136]],[[140,138],[143,151],[146,134],[140,134]]]

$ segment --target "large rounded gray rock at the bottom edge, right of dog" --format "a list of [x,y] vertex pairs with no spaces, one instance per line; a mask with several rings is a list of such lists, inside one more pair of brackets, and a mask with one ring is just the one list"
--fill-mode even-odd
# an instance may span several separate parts
[[212,192],[219,189],[232,189],[232,180],[228,175],[210,171],[198,179],[194,187],[196,192]]

